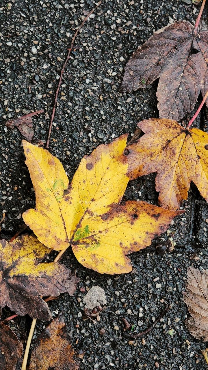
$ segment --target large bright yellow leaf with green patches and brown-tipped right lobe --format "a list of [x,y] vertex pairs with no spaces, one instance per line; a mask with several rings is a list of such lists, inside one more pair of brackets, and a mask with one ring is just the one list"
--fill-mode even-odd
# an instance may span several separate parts
[[60,161],[23,140],[36,209],[23,213],[41,243],[56,250],[72,246],[85,267],[100,273],[132,270],[127,254],[145,248],[178,212],[146,202],[120,204],[129,178],[123,155],[127,135],[85,156],[69,187]]

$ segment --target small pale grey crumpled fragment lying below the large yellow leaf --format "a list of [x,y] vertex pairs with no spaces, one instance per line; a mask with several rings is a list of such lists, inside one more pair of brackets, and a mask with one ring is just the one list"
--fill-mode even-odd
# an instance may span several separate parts
[[93,286],[84,296],[83,303],[86,308],[93,310],[95,307],[106,305],[105,291],[100,286]]

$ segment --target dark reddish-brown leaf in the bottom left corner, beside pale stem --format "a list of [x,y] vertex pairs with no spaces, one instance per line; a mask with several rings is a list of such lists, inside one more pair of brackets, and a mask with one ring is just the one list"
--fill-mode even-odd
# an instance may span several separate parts
[[9,326],[0,324],[0,370],[15,370],[23,345]]

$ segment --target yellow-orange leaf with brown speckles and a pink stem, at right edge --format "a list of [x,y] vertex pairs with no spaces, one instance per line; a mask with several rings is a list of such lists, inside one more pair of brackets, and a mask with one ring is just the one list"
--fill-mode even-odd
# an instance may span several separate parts
[[208,201],[208,134],[157,118],[138,127],[145,135],[127,147],[131,179],[157,172],[155,187],[164,208],[180,208],[191,181]]

